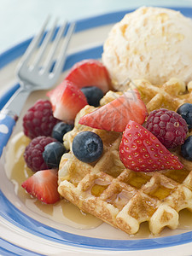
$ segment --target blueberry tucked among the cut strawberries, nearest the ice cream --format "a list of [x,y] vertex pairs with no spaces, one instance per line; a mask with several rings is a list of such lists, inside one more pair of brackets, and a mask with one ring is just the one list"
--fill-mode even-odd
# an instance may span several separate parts
[[103,92],[100,88],[96,86],[86,86],[81,88],[81,91],[84,93],[84,96],[90,106],[99,106],[99,102],[103,97]]

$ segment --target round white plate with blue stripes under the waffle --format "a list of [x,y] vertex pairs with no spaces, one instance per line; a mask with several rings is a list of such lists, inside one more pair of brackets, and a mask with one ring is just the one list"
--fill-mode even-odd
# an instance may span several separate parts
[[[180,8],[183,15],[192,17],[192,9]],[[121,20],[128,11],[100,15],[86,20],[78,20],[76,33],[73,37],[65,71],[77,61],[102,55],[102,43],[107,38],[113,23]],[[0,55],[0,108],[18,89],[15,67],[20,56],[25,52],[31,39],[16,45]],[[61,81],[60,79],[60,81]],[[58,83],[60,82],[58,81]],[[35,92],[26,102],[25,109],[38,98],[44,97],[44,92]],[[22,115],[15,127],[15,133],[20,130]],[[4,154],[3,154],[4,156]],[[15,186],[9,181],[4,170],[3,157],[0,162],[0,253],[3,255],[154,255],[168,253],[183,255],[191,253],[192,230],[166,230],[160,237],[139,239],[127,236],[108,224],[102,224],[92,230],[80,230],[58,224],[33,212],[15,195]]]

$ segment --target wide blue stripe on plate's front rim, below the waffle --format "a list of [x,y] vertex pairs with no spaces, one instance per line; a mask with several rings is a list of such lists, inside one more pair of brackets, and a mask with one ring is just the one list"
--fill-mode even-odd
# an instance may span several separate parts
[[[3,209],[0,210],[1,215],[3,218],[9,220],[10,223],[15,224],[15,226],[32,235],[42,237],[49,241],[56,241],[67,246],[128,251],[170,247],[192,241],[192,232],[177,236],[138,240],[109,240],[73,235],[65,231],[56,230],[28,217],[25,213],[20,212],[13,204],[11,204],[2,192],[0,192],[0,204]],[[3,212],[5,212],[5,214]]]

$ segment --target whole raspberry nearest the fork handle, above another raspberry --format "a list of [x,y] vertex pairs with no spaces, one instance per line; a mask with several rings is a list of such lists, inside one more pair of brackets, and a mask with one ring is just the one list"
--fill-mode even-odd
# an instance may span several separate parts
[[23,118],[24,133],[31,139],[38,136],[48,137],[58,122],[53,116],[51,103],[48,100],[38,100]]

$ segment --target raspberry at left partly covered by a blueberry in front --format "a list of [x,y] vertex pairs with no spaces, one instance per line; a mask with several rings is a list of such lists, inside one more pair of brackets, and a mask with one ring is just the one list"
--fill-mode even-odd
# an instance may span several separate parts
[[43,152],[44,147],[53,142],[56,142],[53,137],[39,136],[33,138],[32,142],[26,146],[24,159],[26,160],[26,165],[32,169],[33,172],[49,169],[44,162]]

